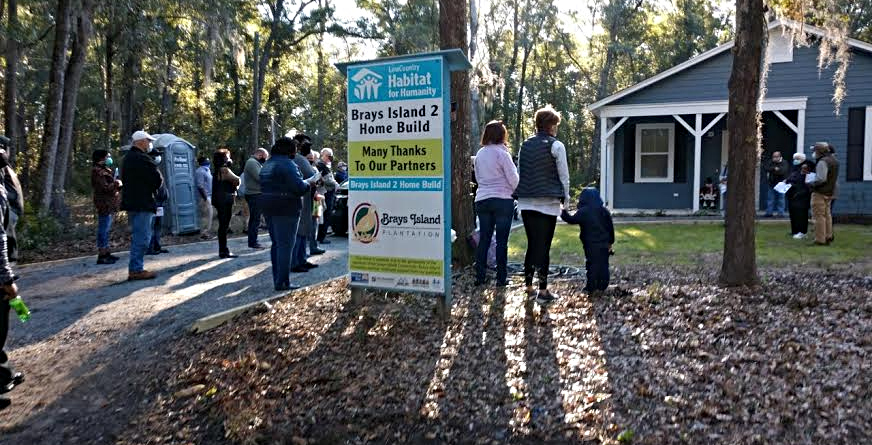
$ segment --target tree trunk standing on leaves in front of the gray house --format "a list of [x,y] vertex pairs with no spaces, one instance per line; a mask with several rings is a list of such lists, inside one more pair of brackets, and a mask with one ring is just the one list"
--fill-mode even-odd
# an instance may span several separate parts
[[728,86],[727,227],[719,278],[725,286],[752,286],[760,282],[754,239],[757,201],[754,184],[760,148],[757,102],[765,69],[766,32],[763,0],[737,0],[736,44]]

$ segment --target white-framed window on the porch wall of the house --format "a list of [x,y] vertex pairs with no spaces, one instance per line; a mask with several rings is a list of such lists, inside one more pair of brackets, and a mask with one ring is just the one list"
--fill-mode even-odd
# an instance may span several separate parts
[[675,124],[636,125],[636,182],[672,182]]

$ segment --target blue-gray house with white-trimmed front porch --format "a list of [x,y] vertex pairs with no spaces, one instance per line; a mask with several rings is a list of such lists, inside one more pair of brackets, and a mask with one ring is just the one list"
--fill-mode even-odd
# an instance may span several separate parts
[[[835,67],[818,70],[818,48],[794,45],[785,27],[769,26],[771,62],[763,111],[762,160],[781,151],[811,159],[810,145],[828,141],[841,163],[836,214],[872,214],[872,44],[849,40],[851,62],[840,113],[832,102]],[[803,25],[809,41],[825,38],[823,30]],[[715,184],[729,156],[727,82],[733,43],[702,53],[633,85],[589,109],[602,131],[600,190],[603,201],[619,213],[699,210],[706,178]],[[761,210],[766,184],[757,175]]]

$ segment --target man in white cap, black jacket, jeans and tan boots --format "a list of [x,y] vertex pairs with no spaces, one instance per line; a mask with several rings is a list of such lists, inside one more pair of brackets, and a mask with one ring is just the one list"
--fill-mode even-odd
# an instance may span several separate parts
[[154,138],[145,131],[131,137],[133,145],[121,167],[121,210],[127,211],[130,221],[130,263],[128,280],[149,280],[157,276],[144,269],[145,252],[151,241],[152,219],[157,210],[155,192],[163,184],[157,164],[147,153]]

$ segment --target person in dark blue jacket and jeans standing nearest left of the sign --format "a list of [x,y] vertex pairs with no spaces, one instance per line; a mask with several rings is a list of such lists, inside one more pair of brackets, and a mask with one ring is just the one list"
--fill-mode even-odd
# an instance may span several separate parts
[[[291,252],[295,244],[301,242],[297,237],[297,225],[303,208],[301,197],[309,194],[320,179],[316,174],[303,180],[300,169],[292,160],[296,151],[296,141],[288,137],[280,138],[273,145],[270,158],[259,173],[261,193],[258,199],[272,241],[269,253],[276,290],[298,287],[291,285],[289,273]],[[302,242],[305,243],[305,240]]]

